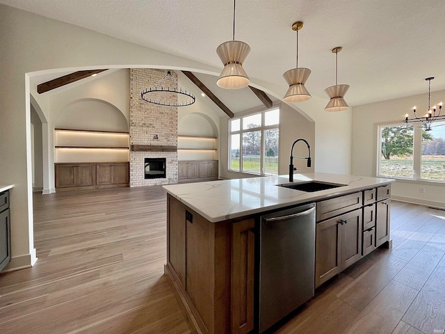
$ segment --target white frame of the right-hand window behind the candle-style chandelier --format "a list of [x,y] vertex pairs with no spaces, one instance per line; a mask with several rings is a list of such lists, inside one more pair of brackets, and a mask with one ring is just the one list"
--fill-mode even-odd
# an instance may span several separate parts
[[444,184],[445,180],[433,180],[425,179],[421,177],[421,164],[422,164],[422,131],[420,127],[413,127],[413,148],[412,148],[412,177],[404,176],[392,176],[385,175],[381,173],[382,166],[382,129],[385,127],[403,127],[401,122],[385,122],[377,125],[377,164],[376,173],[377,177],[389,177],[391,179],[402,180],[402,181],[415,181],[426,184],[439,183]]

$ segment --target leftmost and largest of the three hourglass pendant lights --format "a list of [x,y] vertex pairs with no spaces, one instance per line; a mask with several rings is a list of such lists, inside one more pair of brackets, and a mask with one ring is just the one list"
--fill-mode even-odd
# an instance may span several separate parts
[[244,88],[250,84],[248,74],[243,69],[243,63],[250,52],[250,47],[245,42],[235,40],[235,6],[236,0],[234,0],[233,38],[216,49],[216,53],[224,64],[223,72],[216,84],[226,89]]

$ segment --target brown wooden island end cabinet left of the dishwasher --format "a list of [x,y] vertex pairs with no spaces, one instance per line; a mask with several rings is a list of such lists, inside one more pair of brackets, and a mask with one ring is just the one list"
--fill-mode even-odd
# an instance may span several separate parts
[[198,333],[249,333],[254,309],[253,218],[211,223],[167,200],[165,273]]

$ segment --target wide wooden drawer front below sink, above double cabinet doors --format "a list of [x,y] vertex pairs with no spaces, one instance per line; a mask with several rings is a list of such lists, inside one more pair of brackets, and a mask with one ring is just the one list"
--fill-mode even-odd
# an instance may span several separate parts
[[322,200],[317,202],[317,221],[339,216],[345,212],[353,211],[362,207],[362,191],[350,193],[349,195]]

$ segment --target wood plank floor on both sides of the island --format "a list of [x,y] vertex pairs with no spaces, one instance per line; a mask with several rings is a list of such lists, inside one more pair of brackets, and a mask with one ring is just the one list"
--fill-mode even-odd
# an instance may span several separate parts
[[[36,194],[39,260],[0,274],[0,333],[191,333],[163,276],[165,209],[159,186]],[[445,211],[393,201],[391,238],[276,333],[444,333]]]

